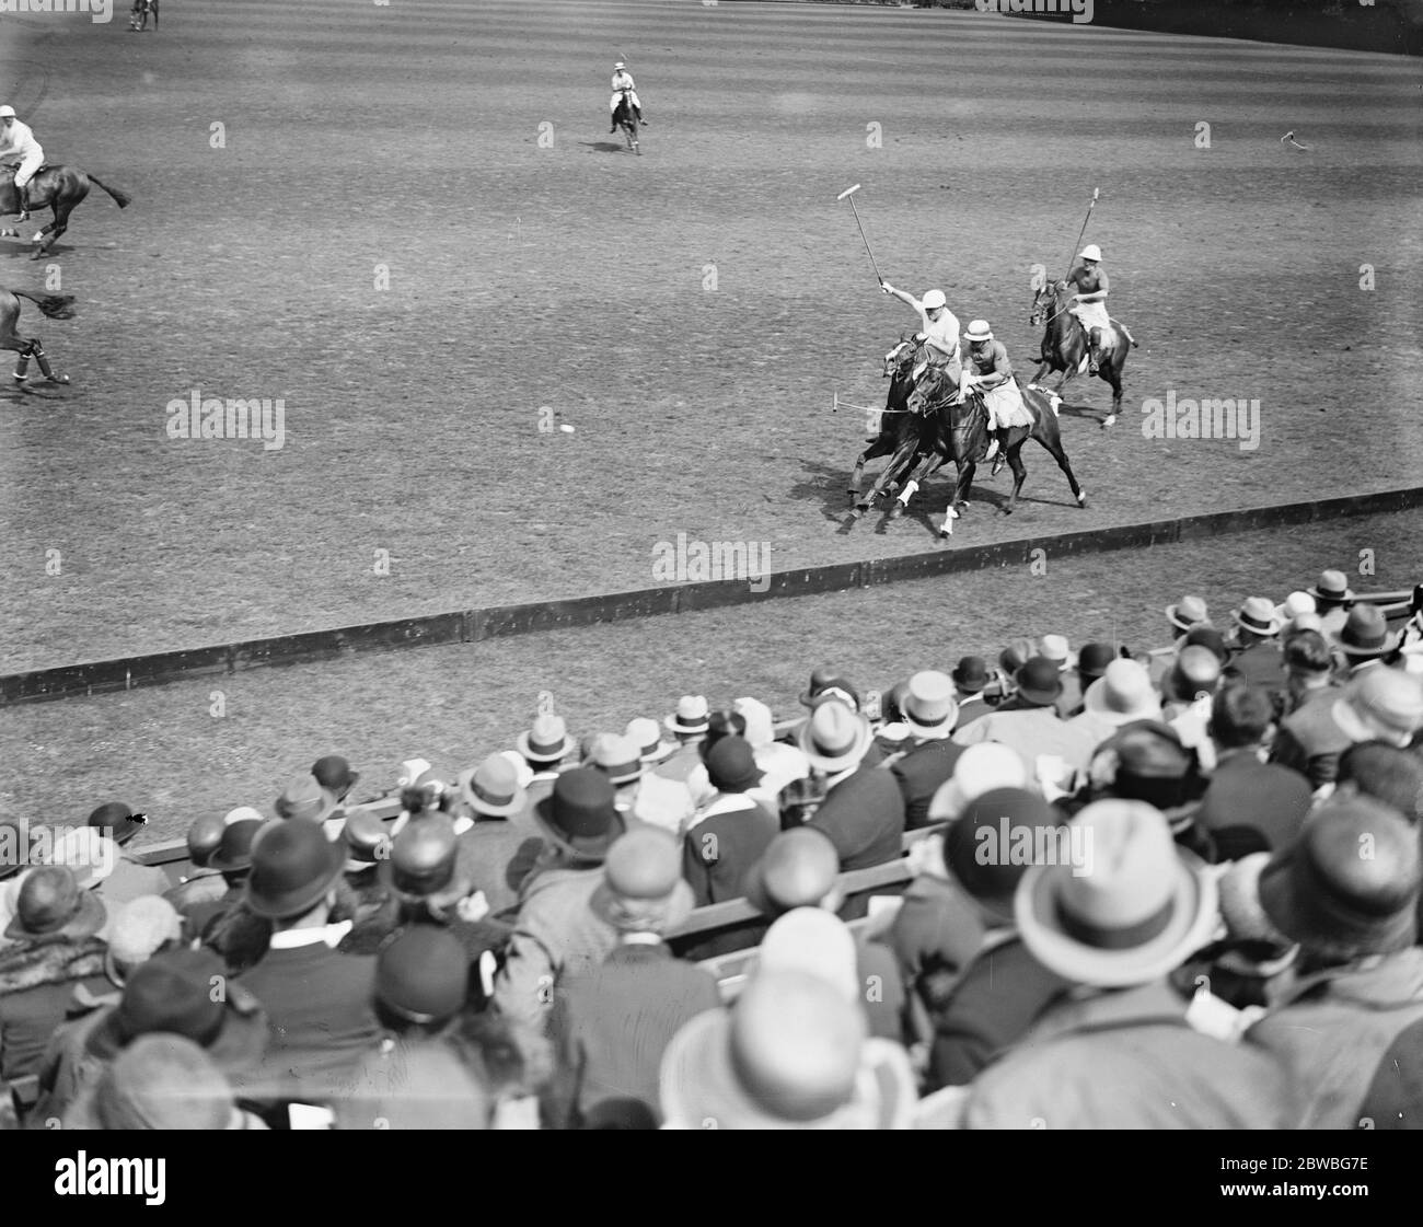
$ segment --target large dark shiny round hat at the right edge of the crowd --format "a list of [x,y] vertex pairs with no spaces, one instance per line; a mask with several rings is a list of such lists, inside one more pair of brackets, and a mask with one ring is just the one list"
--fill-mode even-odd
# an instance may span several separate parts
[[[1372,855],[1362,855],[1368,843]],[[1373,797],[1335,797],[1259,875],[1259,901],[1291,941],[1331,961],[1407,949],[1417,938],[1419,833]]]

